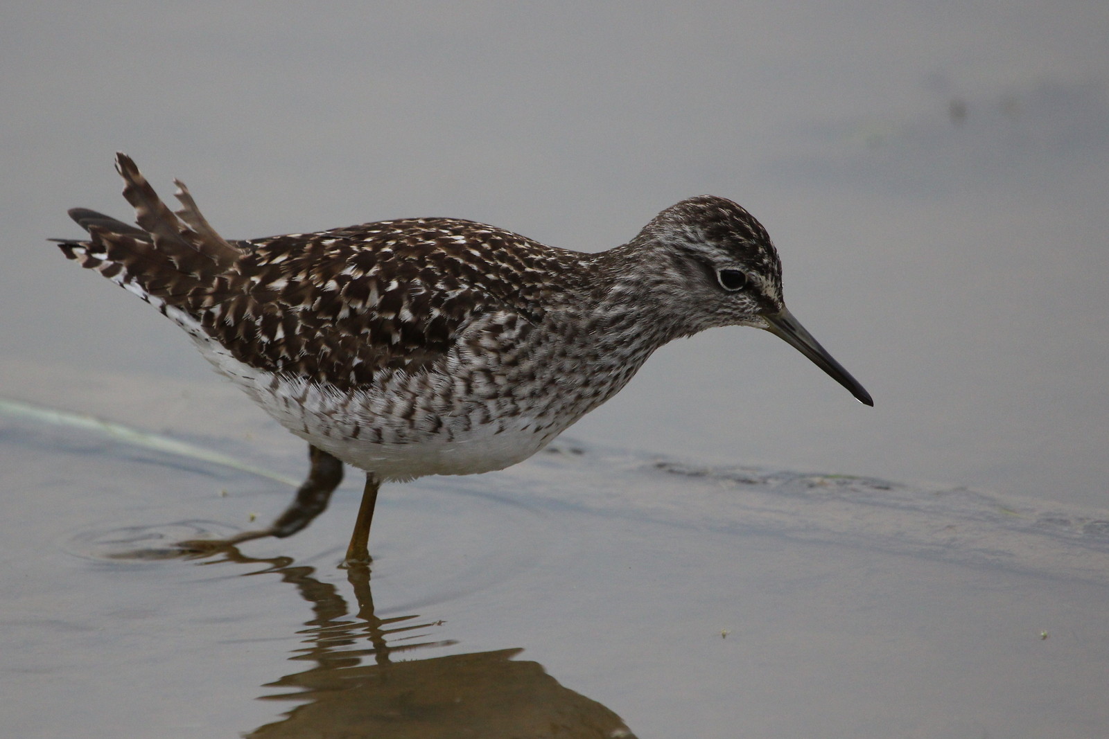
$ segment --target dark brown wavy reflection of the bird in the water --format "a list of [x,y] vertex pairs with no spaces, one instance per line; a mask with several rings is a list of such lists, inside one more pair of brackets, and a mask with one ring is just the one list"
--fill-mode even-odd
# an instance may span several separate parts
[[420,649],[455,642],[424,640],[441,622],[378,618],[364,565],[347,569],[358,601],[352,616],[338,589],[313,576],[314,567],[289,557],[247,557],[234,546],[220,553],[203,564],[264,564],[251,574],[281,576],[314,612],[301,632],[306,646],[291,657],[314,664],[264,686],[288,689],[264,699],[302,705],[246,737],[633,737],[619,716],[562,687],[538,663],[513,660],[522,649],[419,659]]

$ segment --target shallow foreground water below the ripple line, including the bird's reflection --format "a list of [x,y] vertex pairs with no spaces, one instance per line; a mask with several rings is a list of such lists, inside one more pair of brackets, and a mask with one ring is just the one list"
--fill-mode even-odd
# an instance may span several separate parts
[[226,386],[200,401],[88,382],[87,407],[111,388],[138,413],[189,398],[169,441],[192,447],[4,406],[10,736],[1078,738],[1109,721],[1109,512],[563,441],[384,489],[372,573],[337,567],[356,475],[298,535],[172,557],[292,492],[195,450],[295,479],[306,461],[282,447],[298,443],[221,402]]

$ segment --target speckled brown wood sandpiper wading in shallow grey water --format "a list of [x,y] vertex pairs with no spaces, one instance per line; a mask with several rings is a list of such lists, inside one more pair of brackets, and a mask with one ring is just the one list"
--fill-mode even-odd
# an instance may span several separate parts
[[65,256],[150,302],[286,429],[311,471],[272,525],[327,506],[346,462],[366,472],[348,563],[368,562],[384,481],[528,459],[615,394],[655,349],[716,326],[773,332],[855,398],[871,396],[790,314],[762,225],[702,195],[635,238],[584,254],[456,218],[404,218],[227,240],[175,181],[172,212],[116,156],[138,227],[87,208]]

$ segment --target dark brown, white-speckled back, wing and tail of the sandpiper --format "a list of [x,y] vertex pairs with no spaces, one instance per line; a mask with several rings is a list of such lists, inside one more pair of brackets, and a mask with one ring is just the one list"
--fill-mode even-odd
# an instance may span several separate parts
[[[177,308],[236,359],[342,390],[380,370],[418,371],[474,317],[543,305],[580,283],[560,253],[510,232],[452,218],[408,218],[228,243],[194,230],[120,157],[141,228],[74,209],[90,242],[70,258],[123,275],[159,307]],[[187,191],[182,187],[182,192]],[[202,216],[191,198],[185,213]]]

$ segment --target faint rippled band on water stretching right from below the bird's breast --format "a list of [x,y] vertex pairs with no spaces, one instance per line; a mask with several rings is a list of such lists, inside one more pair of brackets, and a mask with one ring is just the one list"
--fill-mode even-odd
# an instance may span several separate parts
[[538,464],[558,474],[560,491],[539,504],[1109,584],[1106,510],[581,444],[551,451]]

